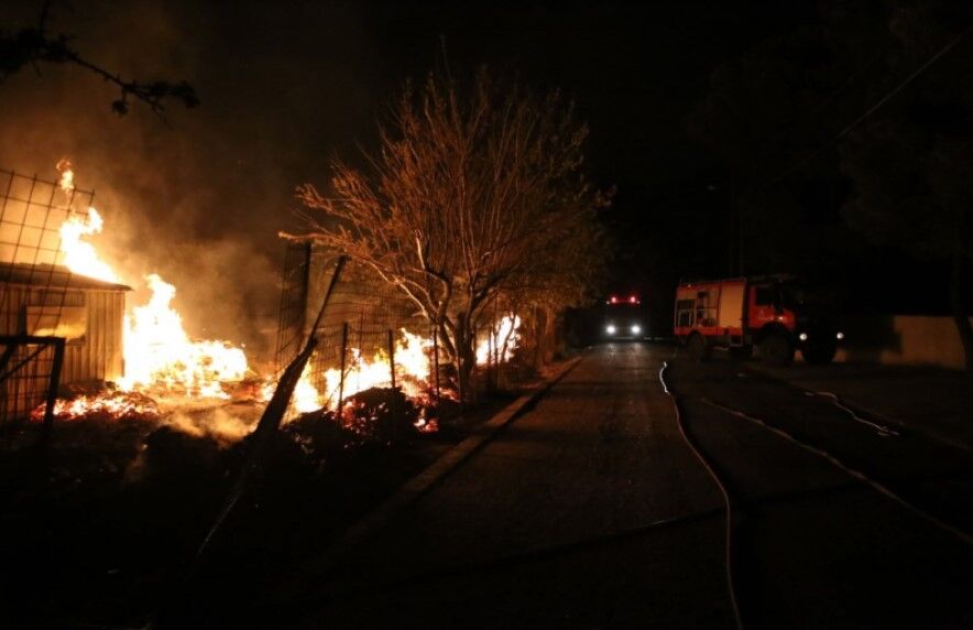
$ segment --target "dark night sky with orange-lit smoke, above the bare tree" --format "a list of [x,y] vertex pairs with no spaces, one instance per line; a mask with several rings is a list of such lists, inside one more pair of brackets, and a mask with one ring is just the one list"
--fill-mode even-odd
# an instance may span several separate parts
[[[33,22],[41,4],[3,3],[0,24]],[[684,117],[711,69],[800,18],[780,2],[52,4],[50,30],[84,56],[124,77],[186,78],[201,105],[118,118],[114,90],[85,70],[28,69],[0,84],[0,169],[54,178],[69,158],[106,219],[99,248],[127,280],[160,272],[190,333],[260,351],[273,344],[276,233],[294,228],[294,187],[326,185],[334,156],[373,146],[407,77],[487,64],[562,89],[590,124],[593,176],[619,186],[613,211],[638,215],[652,191],[704,166]]]

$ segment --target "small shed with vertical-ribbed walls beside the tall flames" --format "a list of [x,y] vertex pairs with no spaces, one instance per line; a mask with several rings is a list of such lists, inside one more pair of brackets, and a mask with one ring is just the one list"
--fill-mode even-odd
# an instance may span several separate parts
[[44,402],[54,338],[64,340],[62,384],[120,379],[128,291],[63,267],[0,263],[0,419]]

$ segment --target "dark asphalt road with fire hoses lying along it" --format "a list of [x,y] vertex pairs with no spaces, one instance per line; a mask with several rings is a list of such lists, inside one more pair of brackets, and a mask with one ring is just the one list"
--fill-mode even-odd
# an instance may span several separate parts
[[723,495],[680,433],[666,361],[687,435],[731,500],[743,627],[973,628],[969,453],[730,360],[643,344],[595,348],[308,577],[293,621],[735,628]]

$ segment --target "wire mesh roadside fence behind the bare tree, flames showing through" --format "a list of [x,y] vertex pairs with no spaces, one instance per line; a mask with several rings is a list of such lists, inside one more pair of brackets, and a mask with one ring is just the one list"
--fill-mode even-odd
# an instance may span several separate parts
[[[414,400],[438,403],[457,398],[450,357],[422,309],[394,284],[362,264],[341,270],[319,325],[313,326],[336,270],[337,254],[308,243],[289,243],[285,254],[276,366],[278,373],[314,335],[304,392],[306,408],[336,410],[371,388],[396,388]],[[490,305],[477,330],[474,377],[498,385],[496,366],[511,362],[521,318]],[[515,378],[510,374],[505,384]],[[305,399],[307,400],[307,399]]]

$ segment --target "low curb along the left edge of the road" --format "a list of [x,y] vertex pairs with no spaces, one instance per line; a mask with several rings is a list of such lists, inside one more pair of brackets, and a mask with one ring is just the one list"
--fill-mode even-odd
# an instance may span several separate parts
[[319,571],[327,571],[362,541],[371,537],[384,528],[400,511],[428,492],[433,486],[456,470],[488,442],[492,441],[496,433],[520,417],[524,409],[537,401],[583,359],[583,356],[576,357],[559,366],[557,371],[544,382],[532,387],[527,393],[503,408],[498,414],[477,427],[469,437],[440,455],[425,470],[403,484],[394,495],[345,530],[345,533],[330,544],[324,555],[315,563],[318,565]]

